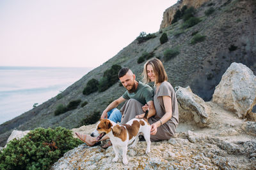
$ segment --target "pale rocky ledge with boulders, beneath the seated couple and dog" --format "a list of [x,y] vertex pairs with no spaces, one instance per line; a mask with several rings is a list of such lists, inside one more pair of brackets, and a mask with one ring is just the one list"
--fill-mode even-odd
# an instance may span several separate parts
[[[255,169],[255,80],[250,69],[233,63],[216,87],[213,101],[205,102],[189,87],[176,87],[177,134],[168,141],[152,142],[148,154],[145,141],[129,148],[127,166],[121,158],[111,162],[112,146],[104,150],[83,144],[65,153],[51,169]],[[95,126],[72,131],[90,134]]]

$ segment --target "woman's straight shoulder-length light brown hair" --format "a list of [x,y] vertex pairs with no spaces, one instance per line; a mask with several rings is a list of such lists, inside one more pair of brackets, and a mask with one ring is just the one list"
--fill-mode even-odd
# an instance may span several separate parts
[[150,82],[150,78],[148,77],[147,74],[147,66],[148,64],[150,64],[153,67],[153,71],[155,74],[155,85],[157,83],[162,83],[163,81],[167,81],[168,80],[168,76],[164,70],[164,66],[163,63],[161,62],[161,60],[159,59],[151,59],[148,60],[145,64],[144,64],[144,69],[143,69],[143,83],[148,83]]

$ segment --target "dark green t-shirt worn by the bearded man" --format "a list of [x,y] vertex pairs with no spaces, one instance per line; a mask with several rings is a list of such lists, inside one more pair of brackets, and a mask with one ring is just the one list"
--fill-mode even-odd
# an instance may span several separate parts
[[138,87],[135,92],[129,93],[127,90],[123,94],[124,99],[136,99],[141,104],[146,104],[148,101],[153,101],[154,92],[153,89],[144,83],[139,81]]

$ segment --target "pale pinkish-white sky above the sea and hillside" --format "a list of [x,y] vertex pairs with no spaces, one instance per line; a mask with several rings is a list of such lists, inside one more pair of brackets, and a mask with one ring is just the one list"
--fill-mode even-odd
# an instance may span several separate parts
[[177,0],[1,0],[0,66],[97,67]]

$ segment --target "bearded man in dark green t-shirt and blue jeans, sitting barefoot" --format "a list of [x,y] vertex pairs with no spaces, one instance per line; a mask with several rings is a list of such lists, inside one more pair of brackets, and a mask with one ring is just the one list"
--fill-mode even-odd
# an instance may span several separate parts
[[[150,108],[148,111],[148,117],[152,117],[156,114],[153,103],[154,94],[150,86],[145,85],[140,81],[136,81],[135,74],[133,74],[131,69],[127,67],[120,69],[118,78],[127,90],[123,96],[119,97],[108,105],[108,107],[102,112],[100,118],[109,118],[113,122],[120,122],[121,124],[125,124],[136,115],[141,115],[144,113],[142,107],[145,105],[148,105]],[[119,111],[116,109],[116,107],[124,101],[126,101],[126,103],[121,108],[121,110]],[[88,146],[93,146],[95,143],[97,143],[97,139],[93,138],[92,136],[78,133],[76,133],[76,135]],[[108,136],[104,136],[101,140],[106,139],[108,139]],[[106,143],[106,145],[102,146],[102,148],[108,148],[108,146],[111,146],[110,141],[109,143]]]

